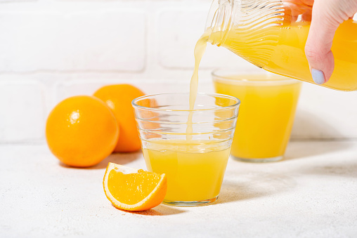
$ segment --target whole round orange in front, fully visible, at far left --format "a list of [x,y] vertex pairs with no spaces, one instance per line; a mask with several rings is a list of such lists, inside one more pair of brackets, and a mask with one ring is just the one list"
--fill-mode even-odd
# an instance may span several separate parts
[[108,157],[117,145],[114,114],[93,96],[75,96],[58,103],[48,115],[46,140],[64,164],[88,167]]

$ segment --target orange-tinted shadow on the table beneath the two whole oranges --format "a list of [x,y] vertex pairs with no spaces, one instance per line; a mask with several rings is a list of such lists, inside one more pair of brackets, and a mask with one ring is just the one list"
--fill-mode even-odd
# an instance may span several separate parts
[[[103,161],[100,161],[99,164],[95,165],[95,166],[91,166],[87,169],[100,169],[100,168],[107,168],[108,163],[112,162],[115,164],[129,164],[130,162],[141,158],[142,157],[142,153],[141,150],[138,152],[131,152],[131,153],[113,153],[110,154],[110,156],[108,156],[107,158],[103,159]],[[65,168],[74,168],[72,166],[67,166],[63,163],[60,162],[60,166],[63,166]]]

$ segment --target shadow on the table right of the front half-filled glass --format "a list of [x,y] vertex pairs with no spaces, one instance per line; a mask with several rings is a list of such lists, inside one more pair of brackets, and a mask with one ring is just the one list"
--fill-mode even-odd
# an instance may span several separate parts
[[291,190],[296,186],[291,177],[274,173],[247,173],[231,175],[237,180],[224,180],[215,204],[254,199]]

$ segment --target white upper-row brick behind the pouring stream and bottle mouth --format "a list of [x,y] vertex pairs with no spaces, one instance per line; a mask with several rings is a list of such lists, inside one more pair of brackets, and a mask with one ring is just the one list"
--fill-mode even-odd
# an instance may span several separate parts
[[[157,20],[159,63],[167,68],[193,68],[196,41],[204,33],[209,7],[190,11],[187,8],[162,10]],[[245,69],[254,65],[242,60],[226,48],[207,44],[201,67],[235,67]]]

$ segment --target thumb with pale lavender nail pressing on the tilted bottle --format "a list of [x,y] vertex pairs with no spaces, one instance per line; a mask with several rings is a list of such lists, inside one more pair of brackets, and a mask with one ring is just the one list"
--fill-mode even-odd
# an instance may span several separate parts
[[305,45],[306,58],[316,84],[327,82],[335,67],[331,47],[339,20],[329,14],[332,8],[329,2],[332,1],[316,0],[313,4],[311,27]]

